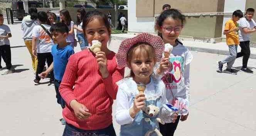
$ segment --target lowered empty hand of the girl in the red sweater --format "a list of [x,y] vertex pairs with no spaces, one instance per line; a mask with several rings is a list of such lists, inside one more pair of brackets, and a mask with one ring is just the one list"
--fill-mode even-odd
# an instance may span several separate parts
[[70,107],[74,110],[76,118],[79,120],[86,120],[91,116],[89,110],[83,104],[77,102],[76,100],[72,100],[70,102]]

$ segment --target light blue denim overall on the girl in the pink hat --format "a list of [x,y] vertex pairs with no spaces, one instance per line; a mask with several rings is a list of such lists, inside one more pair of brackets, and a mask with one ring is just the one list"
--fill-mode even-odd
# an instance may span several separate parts
[[[157,88],[158,87],[155,85],[155,90],[160,91]],[[146,94],[145,96],[147,98]],[[135,96],[133,96],[133,100],[134,99],[135,99]],[[162,99],[162,96],[155,96],[153,97],[153,100],[151,99],[146,101],[146,106],[153,104],[158,108],[160,108],[161,99]],[[148,130],[153,131],[155,128],[159,130],[158,121],[156,120],[158,116],[159,116],[159,113],[153,117],[150,117],[148,116],[148,114],[140,110],[140,112],[136,114],[132,124],[121,126],[120,136],[145,136]],[[150,121],[145,121],[145,118],[149,118]],[[150,136],[157,136],[157,134],[155,134],[155,132],[152,132]]]

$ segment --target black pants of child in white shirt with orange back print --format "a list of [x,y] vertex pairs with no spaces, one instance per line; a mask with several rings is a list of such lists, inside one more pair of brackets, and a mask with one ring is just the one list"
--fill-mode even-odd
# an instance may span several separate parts
[[[45,61],[47,61],[47,65],[50,66],[52,64],[53,61],[53,57],[52,54],[50,52],[47,53],[37,53],[37,73],[35,75],[35,78],[37,80],[40,81],[40,77],[38,76],[40,73],[42,73],[42,71],[44,70],[44,66],[45,66]],[[53,81],[54,79],[54,75],[53,75],[53,71],[50,74],[50,80]]]

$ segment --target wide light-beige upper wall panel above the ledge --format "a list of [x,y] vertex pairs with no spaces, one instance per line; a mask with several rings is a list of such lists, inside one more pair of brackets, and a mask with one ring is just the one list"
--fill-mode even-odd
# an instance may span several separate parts
[[155,0],[155,14],[162,12],[164,4],[170,4],[183,13],[223,12],[224,0]]

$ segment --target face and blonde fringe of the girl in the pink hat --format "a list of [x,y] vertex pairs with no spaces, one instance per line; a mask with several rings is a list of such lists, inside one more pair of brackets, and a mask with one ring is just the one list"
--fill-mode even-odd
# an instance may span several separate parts
[[154,51],[150,45],[138,45],[131,53],[128,53],[130,59],[128,60],[128,67],[133,72],[133,80],[137,83],[148,84],[150,82],[150,75],[153,73],[155,66]]

